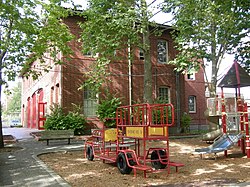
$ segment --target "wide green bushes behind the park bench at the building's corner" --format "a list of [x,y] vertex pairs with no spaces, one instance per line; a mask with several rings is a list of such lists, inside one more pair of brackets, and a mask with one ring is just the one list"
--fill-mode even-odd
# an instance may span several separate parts
[[64,114],[61,106],[54,104],[50,107],[51,114],[46,116],[44,124],[47,130],[74,129],[75,135],[84,134],[86,119],[80,112],[80,107],[75,106],[73,111]]

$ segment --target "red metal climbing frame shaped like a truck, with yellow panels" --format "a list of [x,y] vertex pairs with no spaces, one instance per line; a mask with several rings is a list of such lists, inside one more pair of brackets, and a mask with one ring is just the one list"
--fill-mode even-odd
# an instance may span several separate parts
[[[172,104],[137,104],[119,107],[116,111],[116,128],[103,126],[94,130],[85,143],[85,156],[92,161],[116,163],[122,174],[141,170],[147,172],[168,171],[170,166],[184,166],[169,158],[168,127],[174,125]],[[164,145],[150,147],[150,142],[165,141]],[[151,165],[150,165],[151,164]]]

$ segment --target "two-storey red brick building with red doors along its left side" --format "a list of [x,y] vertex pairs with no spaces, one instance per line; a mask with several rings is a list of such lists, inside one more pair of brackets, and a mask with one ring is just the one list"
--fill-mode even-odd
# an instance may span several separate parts
[[[76,36],[79,35],[78,21],[81,21],[81,18],[77,16],[64,20]],[[192,124],[204,125],[206,102],[203,72],[184,75],[175,72],[174,66],[168,64],[168,61],[174,59],[177,54],[170,32],[171,27],[168,27],[161,36],[150,37],[153,97],[164,98],[174,105],[177,126],[180,125],[180,118],[184,112],[190,113],[193,119]],[[64,65],[55,65],[51,60],[47,60],[47,63],[53,67],[50,72],[43,72],[42,76],[35,81],[32,78],[22,79],[23,126],[42,128],[45,120],[44,114],[49,112],[49,107],[53,103],[59,103],[66,111],[72,109],[72,103],[83,105],[88,119],[96,120],[98,99],[89,97],[91,90],[78,89],[84,82],[83,73],[88,71],[88,66],[95,61],[95,58],[83,55],[79,42],[72,41],[69,45],[74,51],[69,62]],[[124,105],[143,101],[143,54],[140,49],[136,49],[133,65],[129,68],[125,55],[127,50],[116,52],[116,55],[124,58],[109,64],[111,74],[108,79],[110,81],[103,86],[116,97],[123,98]],[[63,54],[58,54],[58,57],[65,58]],[[38,70],[39,62],[34,62],[30,68]]]

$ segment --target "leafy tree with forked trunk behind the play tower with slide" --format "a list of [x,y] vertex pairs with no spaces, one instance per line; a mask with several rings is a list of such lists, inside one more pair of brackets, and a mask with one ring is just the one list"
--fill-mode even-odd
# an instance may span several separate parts
[[[173,63],[188,72],[212,64],[209,91],[215,95],[217,75],[226,53],[243,58],[249,65],[249,2],[245,0],[166,0],[162,7],[172,13],[176,28],[175,41],[180,51]],[[245,56],[244,56],[245,55]],[[248,61],[248,62],[247,62]],[[206,76],[207,79],[207,76]],[[208,81],[208,80],[207,80]]]

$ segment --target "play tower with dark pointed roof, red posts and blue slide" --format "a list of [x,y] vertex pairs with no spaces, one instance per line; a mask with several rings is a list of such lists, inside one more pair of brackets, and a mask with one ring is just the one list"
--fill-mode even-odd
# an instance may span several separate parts
[[[208,100],[209,115],[221,118],[223,134],[214,140],[213,145],[196,149],[196,152],[203,154],[224,151],[224,155],[227,156],[227,150],[237,142],[242,153],[246,153],[247,158],[250,158],[248,106],[240,93],[240,87],[243,86],[250,86],[250,76],[237,62],[234,62],[219,84],[221,94]],[[235,95],[225,94],[224,87],[235,88]],[[228,132],[238,132],[238,134],[228,134]]]

